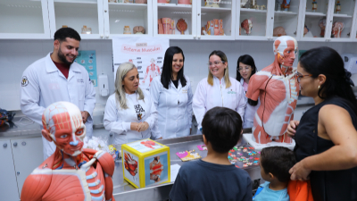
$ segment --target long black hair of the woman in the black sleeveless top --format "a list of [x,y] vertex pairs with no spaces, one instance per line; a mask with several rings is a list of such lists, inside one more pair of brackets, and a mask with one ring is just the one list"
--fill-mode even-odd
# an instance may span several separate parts
[[345,98],[350,102],[354,113],[357,114],[357,99],[353,94],[351,73],[345,70],[344,61],[336,50],[321,46],[306,51],[300,57],[300,66],[309,72],[312,78],[320,74],[326,76],[326,81],[320,86],[319,97],[328,99],[332,96]]

